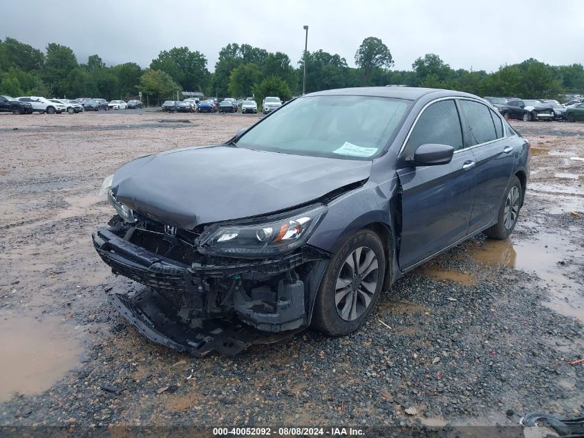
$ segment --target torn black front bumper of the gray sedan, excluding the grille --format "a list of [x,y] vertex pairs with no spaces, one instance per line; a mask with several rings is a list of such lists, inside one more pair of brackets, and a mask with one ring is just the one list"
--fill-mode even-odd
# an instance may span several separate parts
[[[205,327],[205,333],[209,327],[220,328],[218,343],[225,336],[233,338],[234,331],[245,333],[238,335],[241,344],[228,342],[243,349],[265,343],[270,334],[289,336],[310,323],[309,298],[324,270],[317,269],[316,277],[312,271],[327,257],[317,250],[270,260],[188,265],[145,250],[123,235],[115,227],[99,228],[93,245],[113,273],[151,287],[131,298],[111,298],[124,318],[151,340],[198,355],[192,327]],[[250,333],[252,338],[247,337]]]

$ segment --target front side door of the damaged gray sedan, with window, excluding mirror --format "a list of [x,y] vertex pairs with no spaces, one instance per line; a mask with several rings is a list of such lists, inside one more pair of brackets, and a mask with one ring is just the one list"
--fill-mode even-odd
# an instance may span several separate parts
[[[428,143],[455,148],[448,164],[414,166],[404,158]],[[463,239],[469,230],[475,192],[475,157],[464,147],[458,104],[440,100],[423,110],[398,158],[402,237],[398,262],[413,268]]]

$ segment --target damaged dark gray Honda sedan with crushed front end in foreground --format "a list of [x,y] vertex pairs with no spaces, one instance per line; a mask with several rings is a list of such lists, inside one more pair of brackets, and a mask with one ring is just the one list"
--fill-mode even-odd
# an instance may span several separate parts
[[145,336],[236,354],[311,325],[355,331],[404,273],[479,233],[514,230],[529,142],[467,93],[322,91],[225,144],[144,156],[104,181],[93,234]]

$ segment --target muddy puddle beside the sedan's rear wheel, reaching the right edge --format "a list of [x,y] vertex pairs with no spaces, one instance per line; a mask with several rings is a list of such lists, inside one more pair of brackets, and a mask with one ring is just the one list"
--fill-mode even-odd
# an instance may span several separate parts
[[[578,232],[569,230],[569,232]],[[471,257],[478,262],[536,273],[549,288],[545,305],[565,316],[584,322],[584,282],[578,260],[584,249],[559,233],[540,233],[531,240],[515,242],[486,239],[471,248]]]

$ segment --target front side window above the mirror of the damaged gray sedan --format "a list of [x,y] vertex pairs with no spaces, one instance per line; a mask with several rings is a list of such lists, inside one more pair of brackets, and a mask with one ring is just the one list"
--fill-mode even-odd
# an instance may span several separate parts
[[442,100],[424,110],[408,139],[408,154],[427,143],[462,149],[462,129],[454,100]]

